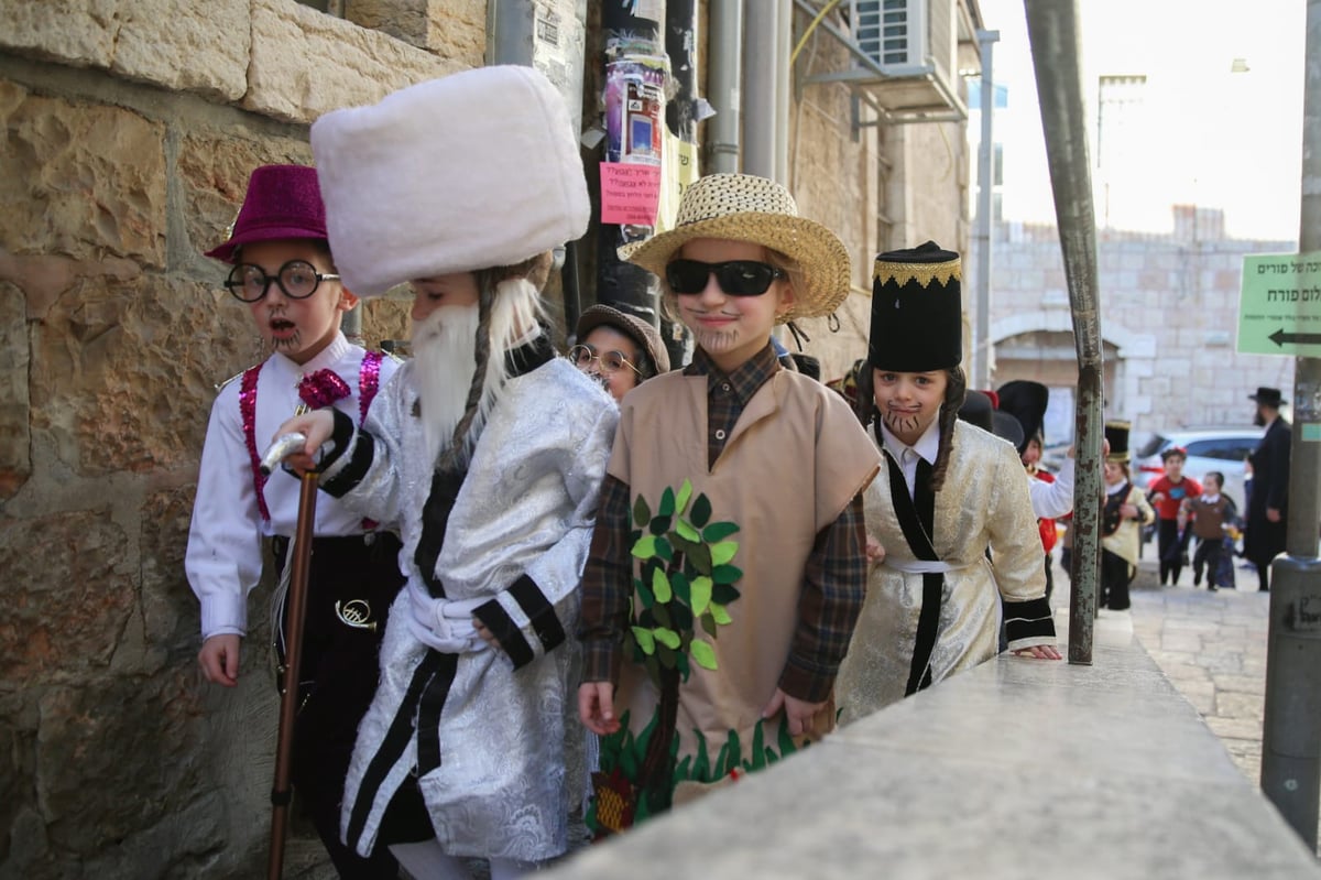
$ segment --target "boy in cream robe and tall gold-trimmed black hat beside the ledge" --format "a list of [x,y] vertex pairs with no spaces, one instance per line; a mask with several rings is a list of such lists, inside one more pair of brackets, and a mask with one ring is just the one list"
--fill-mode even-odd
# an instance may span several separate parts
[[876,258],[867,359],[885,466],[865,510],[885,554],[840,670],[845,719],[995,657],[1001,597],[1009,649],[1059,659],[1022,464],[958,420],[959,276],[958,254],[934,242]]

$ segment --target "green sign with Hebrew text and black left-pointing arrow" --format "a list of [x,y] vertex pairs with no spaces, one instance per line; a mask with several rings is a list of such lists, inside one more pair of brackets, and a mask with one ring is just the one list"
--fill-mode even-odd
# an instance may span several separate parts
[[1238,350],[1321,357],[1321,252],[1243,258]]

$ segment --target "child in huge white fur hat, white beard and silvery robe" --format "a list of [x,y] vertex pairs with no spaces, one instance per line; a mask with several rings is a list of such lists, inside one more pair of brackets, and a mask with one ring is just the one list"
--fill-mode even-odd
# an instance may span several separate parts
[[321,488],[404,544],[342,831],[417,877],[518,876],[567,848],[565,634],[618,419],[543,324],[547,251],[590,215],[568,110],[483,67],[328,114],[312,148],[345,279],[413,291],[413,359],[366,424],[281,428],[308,436],[296,466],[333,441]]

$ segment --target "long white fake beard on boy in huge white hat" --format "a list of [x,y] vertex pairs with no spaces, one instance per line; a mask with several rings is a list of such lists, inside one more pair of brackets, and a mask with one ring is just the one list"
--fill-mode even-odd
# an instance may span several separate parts
[[477,305],[441,305],[413,325],[413,377],[427,458],[435,464],[454,435],[477,369]]

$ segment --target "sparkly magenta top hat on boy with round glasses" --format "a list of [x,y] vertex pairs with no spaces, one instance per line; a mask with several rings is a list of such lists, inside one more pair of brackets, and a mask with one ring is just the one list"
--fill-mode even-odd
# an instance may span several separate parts
[[229,240],[206,255],[232,263],[235,248],[281,238],[329,238],[314,168],[263,165],[255,169],[248,178],[243,207],[229,230]]

